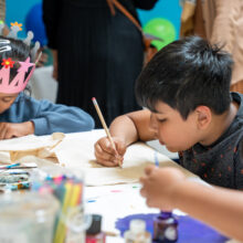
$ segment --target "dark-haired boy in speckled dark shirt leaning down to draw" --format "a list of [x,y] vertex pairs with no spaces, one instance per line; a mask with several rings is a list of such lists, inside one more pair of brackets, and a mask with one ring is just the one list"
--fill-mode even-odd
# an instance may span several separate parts
[[[119,156],[137,140],[159,139],[209,183],[243,189],[243,96],[230,93],[232,64],[228,53],[198,36],[158,52],[136,83],[137,99],[149,110],[110,125]],[[104,166],[120,159],[107,138],[95,144],[95,155]]]

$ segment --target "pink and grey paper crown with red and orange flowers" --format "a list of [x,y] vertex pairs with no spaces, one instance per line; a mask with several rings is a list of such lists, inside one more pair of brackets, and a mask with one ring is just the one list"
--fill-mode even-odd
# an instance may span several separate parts
[[[3,22],[0,22],[0,33],[3,27],[4,27]],[[22,30],[21,27],[22,24],[18,22],[11,23],[11,31],[8,34],[8,38],[17,39],[18,32]],[[23,42],[27,45],[30,45],[32,39],[33,39],[33,33],[29,31],[28,36],[25,40],[23,40]],[[11,43],[10,40],[0,39],[0,44],[2,44],[2,46],[0,47],[0,53],[11,51],[12,47],[10,43]],[[34,47],[31,50],[31,55],[33,57],[35,57],[39,47],[40,47],[40,43],[35,42]],[[15,68],[13,67],[14,63],[19,63],[20,67],[17,71],[17,75],[11,80],[10,74],[11,74],[11,68]],[[0,70],[0,93],[15,94],[22,92],[25,88],[28,82],[30,81],[30,77],[34,72],[35,63],[30,63],[30,56],[27,57],[24,62],[12,61],[11,57],[2,59],[2,63],[1,63],[2,67]],[[28,72],[29,74],[27,75]]]

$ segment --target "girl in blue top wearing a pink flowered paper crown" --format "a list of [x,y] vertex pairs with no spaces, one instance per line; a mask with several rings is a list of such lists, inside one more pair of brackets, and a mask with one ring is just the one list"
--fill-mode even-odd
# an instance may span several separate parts
[[[38,62],[33,63],[32,59],[40,44],[36,42],[31,50],[33,33],[29,32],[24,41],[17,40],[22,24],[11,25],[9,35],[0,36],[0,139],[93,129],[94,120],[84,110],[35,101],[24,94]],[[2,28],[0,23],[0,32]]]

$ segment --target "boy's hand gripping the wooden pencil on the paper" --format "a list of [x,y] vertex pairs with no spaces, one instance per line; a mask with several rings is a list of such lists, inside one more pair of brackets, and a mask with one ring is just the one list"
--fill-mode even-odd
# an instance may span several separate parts
[[123,163],[126,146],[119,138],[113,137],[116,150],[113,148],[109,139],[103,137],[95,142],[95,157],[97,162],[107,166],[116,167]]

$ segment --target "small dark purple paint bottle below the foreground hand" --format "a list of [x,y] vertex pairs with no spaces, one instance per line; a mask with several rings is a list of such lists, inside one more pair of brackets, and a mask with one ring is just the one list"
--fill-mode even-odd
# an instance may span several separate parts
[[154,220],[152,242],[172,243],[178,240],[178,221],[172,212],[160,212]]

